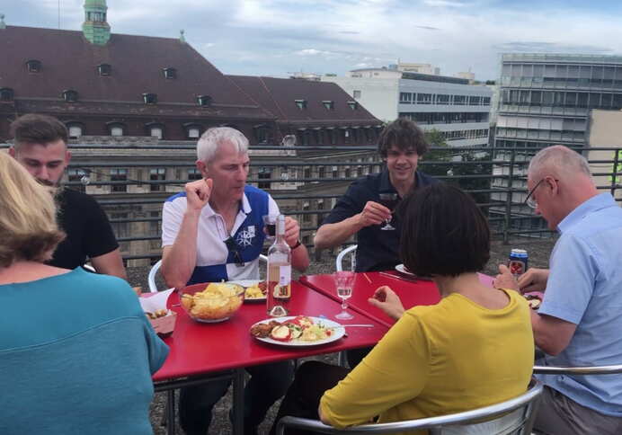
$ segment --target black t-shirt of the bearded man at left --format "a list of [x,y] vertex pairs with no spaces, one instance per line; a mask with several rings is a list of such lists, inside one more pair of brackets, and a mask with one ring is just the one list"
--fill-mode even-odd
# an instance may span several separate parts
[[67,238],[58,244],[49,264],[76,269],[119,247],[106,214],[96,200],[80,191],[64,189],[57,196],[58,226]]

